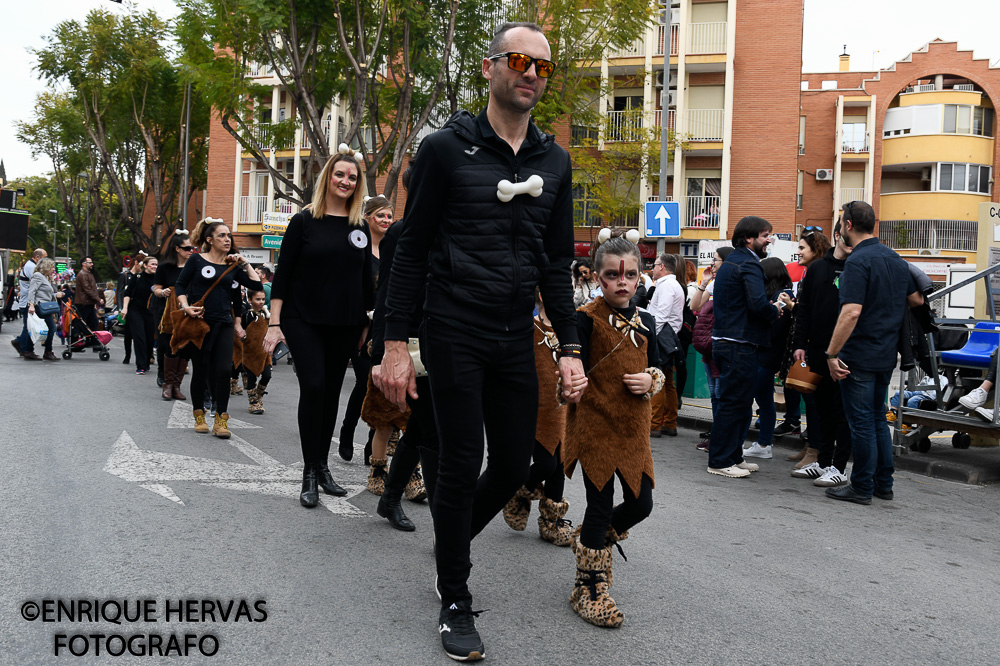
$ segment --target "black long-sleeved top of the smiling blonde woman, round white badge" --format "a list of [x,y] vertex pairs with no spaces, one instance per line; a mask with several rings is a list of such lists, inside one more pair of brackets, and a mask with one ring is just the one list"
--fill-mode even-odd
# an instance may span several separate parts
[[375,307],[371,244],[368,225],[336,215],[317,220],[309,211],[293,215],[271,284],[271,299],[283,301],[281,318],[366,325]]

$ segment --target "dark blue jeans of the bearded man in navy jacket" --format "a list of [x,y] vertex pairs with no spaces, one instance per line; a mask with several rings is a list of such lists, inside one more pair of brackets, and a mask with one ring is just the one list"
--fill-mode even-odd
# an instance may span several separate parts
[[713,340],[712,355],[722,372],[708,466],[716,469],[743,462],[743,433],[750,427],[757,377],[757,347],[741,342]]

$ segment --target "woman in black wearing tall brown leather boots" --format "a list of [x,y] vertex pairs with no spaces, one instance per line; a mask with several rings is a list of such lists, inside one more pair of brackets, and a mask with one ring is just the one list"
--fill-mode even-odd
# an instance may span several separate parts
[[170,314],[178,309],[177,293],[174,285],[180,277],[181,269],[194,252],[191,235],[187,229],[178,229],[167,241],[160,253],[160,267],[153,276],[153,295],[163,301],[163,316],[159,321],[159,335],[156,338],[156,355],[160,367],[163,368],[164,400],[187,400],[181,393],[181,382],[187,371],[187,360],[173,353],[170,349],[170,336],[173,332],[173,321]]

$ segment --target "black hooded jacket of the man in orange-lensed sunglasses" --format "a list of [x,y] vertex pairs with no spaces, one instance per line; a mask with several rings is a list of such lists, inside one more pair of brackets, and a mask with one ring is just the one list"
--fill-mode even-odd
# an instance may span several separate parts
[[[497,197],[501,180],[538,175],[540,196]],[[386,297],[386,340],[406,340],[423,297],[428,317],[473,335],[531,334],[535,287],[559,340],[578,342],[573,316],[569,154],[534,123],[517,154],[486,111],[460,111],[420,145]]]

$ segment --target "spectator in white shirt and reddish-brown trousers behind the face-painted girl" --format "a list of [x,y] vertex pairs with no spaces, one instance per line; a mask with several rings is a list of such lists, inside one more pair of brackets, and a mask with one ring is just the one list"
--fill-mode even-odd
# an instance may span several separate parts
[[[676,255],[661,253],[653,262],[654,291],[649,299],[649,313],[656,320],[656,334],[664,326],[676,334],[684,323],[684,289],[677,282]],[[652,417],[649,422],[651,437],[661,434],[677,436],[677,388],[674,386],[674,363],[661,357],[666,381],[663,390],[652,397]]]

